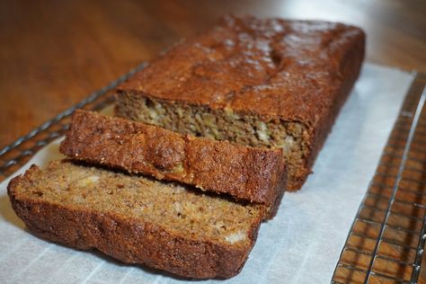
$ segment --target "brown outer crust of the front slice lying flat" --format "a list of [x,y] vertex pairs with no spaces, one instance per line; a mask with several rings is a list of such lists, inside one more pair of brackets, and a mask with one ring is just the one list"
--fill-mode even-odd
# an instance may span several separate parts
[[40,171],[31,166],[25,174],[13,178],[7,191],[18,217],[41,238],[90,250],[97,249],[127,263],[149,267],[196,279],[230,278],[243,267],[253,247],[261,220],[253,223],[250,242],[226,245],[188,235],[173,235],[160,226],[130,217],[78,209],[36,200],[19,192],[31,186],[31,174]]

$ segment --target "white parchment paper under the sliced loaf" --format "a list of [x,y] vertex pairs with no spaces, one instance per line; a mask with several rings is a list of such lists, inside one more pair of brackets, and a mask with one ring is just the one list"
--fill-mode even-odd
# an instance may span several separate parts
[[[372,64],[363,67],[316,159],[314,174],[301,191],[286,193],[277,217],[262,225],[244,270],[226,282],[330,282],[413,77],[393,68]],[[61,157],[56,141],[29,164],[43,166]],[[18,173],[23,173],[29,164]],[[158,271],[114,262],[100,253],[75,251],[31,235],[13,213],[6,192],[9,180],[0,184],[0,282],[183,282]]]

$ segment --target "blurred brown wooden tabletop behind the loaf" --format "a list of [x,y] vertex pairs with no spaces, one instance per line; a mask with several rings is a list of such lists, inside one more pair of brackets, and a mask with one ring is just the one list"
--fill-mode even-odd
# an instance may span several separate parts
[[426,2],[1,1],[0,147],[224,13],[359,25],[370,62],[426,72]]

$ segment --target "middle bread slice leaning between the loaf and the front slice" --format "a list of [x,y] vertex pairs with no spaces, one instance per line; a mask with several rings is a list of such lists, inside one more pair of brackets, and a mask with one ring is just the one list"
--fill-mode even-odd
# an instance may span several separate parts
[[60,152],[159,180],[272,206],[285,190],[281,150],[184,136],[144,123],[75,111]]

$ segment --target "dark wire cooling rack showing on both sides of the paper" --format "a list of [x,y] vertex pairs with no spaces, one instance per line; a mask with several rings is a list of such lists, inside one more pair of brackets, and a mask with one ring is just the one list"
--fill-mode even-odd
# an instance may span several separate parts
[[[114,101],[120,76],[84,101],[0,149],[0,182],[64,134],[76,109],[98,111]],[[342,249],[332,283],[426,283],[426,75],[417,75]]]

